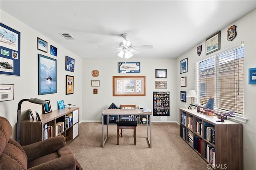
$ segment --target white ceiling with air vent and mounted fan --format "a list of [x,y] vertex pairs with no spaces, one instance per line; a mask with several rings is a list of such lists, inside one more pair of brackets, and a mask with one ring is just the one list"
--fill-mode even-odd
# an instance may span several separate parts
[[105,47],[118,47],[123,33],[134,46],[153,45],[136,58],[176,58],[252,11],[256,1],[1,0],[0,8],[81,58],[118,57]]

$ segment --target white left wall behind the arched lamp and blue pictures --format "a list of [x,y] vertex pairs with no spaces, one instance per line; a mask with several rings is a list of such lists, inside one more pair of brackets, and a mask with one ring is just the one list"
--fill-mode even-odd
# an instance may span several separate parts
[[[0,76],[1,84],[14,84],[14,100],[0,102],[0,115],[6,117],[13,128],[12,138],[16,139],[17,108],[18,102],[22,99],[39,98],[50,100],[52,110],[58,109],[58,100],[64,100],[65,104],[70,103],[80,107],[80,112],[82,113],[82,59],[3,10],[0,12],[1,23],[19,31],[21,39],[20,76],[2,74]],[[36,37],[48,42],[48,53],[36,49]],[[50,45],[58,48],[57,57],[50,55]],[[57,93],[55,94],[38,95],[38,53],[57,60]],[[75,72],[65,70],[66,55],[75,59]],[[66,95],[66,75],[74,76],[74,94]],[[36,115],[35,111],[42,113],[41,105],[23,102],[22,117],[27,117],[29,108],[32,108],[34,115]]]

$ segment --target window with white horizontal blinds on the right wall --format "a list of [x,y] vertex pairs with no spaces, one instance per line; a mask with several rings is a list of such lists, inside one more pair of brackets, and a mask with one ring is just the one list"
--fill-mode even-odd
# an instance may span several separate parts
[[195,63],[196,104],[244,113],[244,46]]

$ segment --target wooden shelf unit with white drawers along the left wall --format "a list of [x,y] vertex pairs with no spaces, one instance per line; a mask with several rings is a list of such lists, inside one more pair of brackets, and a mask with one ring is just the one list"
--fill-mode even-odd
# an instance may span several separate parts
[[20,122],[20,145],[25,146],[44,139],[44,125],[52,126],[52,137],[56,135],[56,123],[65,121],[65,116],[72,113],[72,126],[64,128],[58,135],[66,137],[67,145],[79,135],[79,107],[70,107],[54,110],[40,115],[41,121],[32,118]]

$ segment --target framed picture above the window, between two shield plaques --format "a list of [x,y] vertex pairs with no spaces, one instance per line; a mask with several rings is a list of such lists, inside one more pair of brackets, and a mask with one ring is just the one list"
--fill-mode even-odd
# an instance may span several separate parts
[[206,55],[220,50],[220,31],[205,40]]

